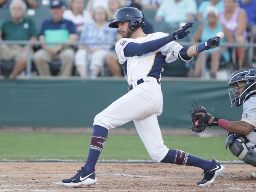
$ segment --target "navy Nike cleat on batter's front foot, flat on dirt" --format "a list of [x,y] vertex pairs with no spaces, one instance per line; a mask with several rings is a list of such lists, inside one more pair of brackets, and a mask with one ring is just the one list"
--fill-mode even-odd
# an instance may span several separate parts
[[97,182],[96,175],[94,173],[95,169],[91,171],[90,173],[85,173],[81,170],[77,170],[77,174],[74,177],[71,177],[70,179],[63,179],[62,185],[65,187],[77,187],[81,185],[92,185]]

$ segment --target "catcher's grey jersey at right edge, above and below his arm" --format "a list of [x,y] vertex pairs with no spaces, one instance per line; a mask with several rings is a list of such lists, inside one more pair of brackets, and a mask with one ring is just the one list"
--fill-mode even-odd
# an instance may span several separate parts
[[256,95],[251,96],[243,103],[243,114],[241,121],[247,122],[254,126],[254,130],[246,137],[256,144]]

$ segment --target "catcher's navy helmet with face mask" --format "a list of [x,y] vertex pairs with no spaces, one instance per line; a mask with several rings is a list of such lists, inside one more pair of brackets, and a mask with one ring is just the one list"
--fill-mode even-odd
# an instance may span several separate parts
[[[244,82],[244,85],[240,85]],[[237,87],[228,89],[228,94],[231,101],[231,107],[242,105],[246,96],[256,89],[256,70],[254,69],[242,69],[238,70],[228,79],[228,85],[233,86],[237,84]]]

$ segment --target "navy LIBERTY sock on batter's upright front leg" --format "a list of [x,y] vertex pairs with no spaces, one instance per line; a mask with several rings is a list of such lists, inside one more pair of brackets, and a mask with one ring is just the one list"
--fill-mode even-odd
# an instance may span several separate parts
[[89,154],[83,167],[84,172],[91,172],[95,168],[100,152],[107,141],[108,132],[107,128],[94,125]]

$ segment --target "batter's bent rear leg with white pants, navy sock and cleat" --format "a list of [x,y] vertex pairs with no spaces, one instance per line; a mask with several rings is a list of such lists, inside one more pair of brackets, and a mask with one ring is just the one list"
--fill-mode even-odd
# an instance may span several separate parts
[[197,183],[198,186],[205,187],[211,185],[224,172],[224,166],[215,162],[215,160],[208,161],[178,149],[168,149],[164,145],[156,114],[134,120],[134,124],[149,155],[154,161],[196,166],[203,169],[205,177],[201,182]]

